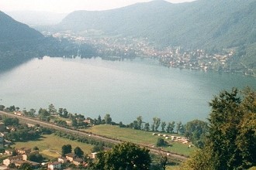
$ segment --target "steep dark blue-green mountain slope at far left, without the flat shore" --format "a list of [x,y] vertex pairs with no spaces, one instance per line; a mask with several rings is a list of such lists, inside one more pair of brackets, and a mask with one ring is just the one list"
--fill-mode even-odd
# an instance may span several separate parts
[[44,36],[35,29],[0,12],[0,69],[16,66],[33,56]]

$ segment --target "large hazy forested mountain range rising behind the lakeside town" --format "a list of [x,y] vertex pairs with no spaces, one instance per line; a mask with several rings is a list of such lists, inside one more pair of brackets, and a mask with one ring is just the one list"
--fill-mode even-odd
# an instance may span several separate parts
[[95,29],[110,36],[147,37],[157,46],[209,52],[234,48],[237,56],[230,63],[237,66],[242,62],[248,68],[256,68],[255,8],[255,0],[198,0],[181,4],[157,0],[106,11],[72,12],[55,29]]

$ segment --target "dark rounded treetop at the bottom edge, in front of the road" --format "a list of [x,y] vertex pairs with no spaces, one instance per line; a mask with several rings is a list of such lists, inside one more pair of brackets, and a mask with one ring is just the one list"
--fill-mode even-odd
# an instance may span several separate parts
[[109,151],[101,151],[97,155],[94,169],[149,169],[149,150],[126,142],[116,145]]

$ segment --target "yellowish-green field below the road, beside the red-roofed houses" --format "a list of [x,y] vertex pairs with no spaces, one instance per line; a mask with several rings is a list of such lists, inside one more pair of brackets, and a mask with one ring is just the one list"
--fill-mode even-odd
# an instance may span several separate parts
[[93,147],[93,145],[84,144],[78,141],[71,141],[66,138],[60,138],[54,134],[45,134],[37,141],[16,142],[16,144],[12,145],[12,147],[27,147],[33,149],[35,146],[37,146],[40,149],[40,154],[49,158],[57,158],[61,155],[61,147],[67,144],[72,146],[73,151],[75,147],[80,147],[85,154],[90,154]]

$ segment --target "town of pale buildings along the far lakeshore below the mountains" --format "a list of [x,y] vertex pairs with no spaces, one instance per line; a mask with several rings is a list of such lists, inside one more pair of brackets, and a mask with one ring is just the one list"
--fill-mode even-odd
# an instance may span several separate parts
[[[102,59],[121,60],[135,57],[154,58],[164,66],[189,70],[215,70],[230,73],[243,73],[254,76],[254,71],[240,63],[240,69],[232,68],[230,60],[235,49],[223,49],[222,52],[207,53],[204,49],[183,49],[181,46],[157,48],[147,38],[132,37],[88,37],[77,36],[71,32],[57,32],[57,39],[68,39],[80,46],[89,44],[95,47]],[[79,56],[79,48],[78,48]],[[83,56],[81,56],[83,57]]]

